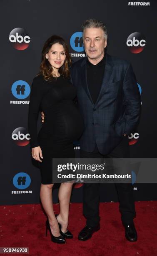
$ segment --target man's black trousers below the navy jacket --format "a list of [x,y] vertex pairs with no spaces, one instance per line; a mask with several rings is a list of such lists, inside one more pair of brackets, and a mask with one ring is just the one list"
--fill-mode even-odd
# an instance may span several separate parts
[[[93,152],[80,150],[81,158],[129,158],[129,141],[128,137],[124,136],[120,144],[114,148],[108,155],[100,154],[97,146]],[[136,215],[135,201],[133,195],[132,184],[130,183],[115,183],[118,199],[120,202],[119,209],[121,213],[122,223],[131,224]],[[99,202],[100,191],[99,184],[86,183],[83,186],[83,214],[87,219],[87,225],[95,227],[99,224]]]

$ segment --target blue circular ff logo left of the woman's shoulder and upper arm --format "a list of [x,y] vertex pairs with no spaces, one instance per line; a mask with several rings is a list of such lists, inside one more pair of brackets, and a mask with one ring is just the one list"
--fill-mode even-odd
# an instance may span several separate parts
[[25,99],[30,95],[30,86],[23,80],[18,80],[12,84],[12,94],[17,99]]

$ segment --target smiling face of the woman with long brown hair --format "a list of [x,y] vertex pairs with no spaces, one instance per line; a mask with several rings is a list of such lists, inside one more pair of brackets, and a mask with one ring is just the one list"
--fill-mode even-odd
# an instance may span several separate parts
[[65,50],[62,44],[53,44],[46,54],[46,59],[50,62],[51,66],[55,69],[62,67],[65,61]]

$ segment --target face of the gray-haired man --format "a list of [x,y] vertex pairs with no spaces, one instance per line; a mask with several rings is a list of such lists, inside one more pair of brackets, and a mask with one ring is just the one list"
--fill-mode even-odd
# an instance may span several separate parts
[[104,54],[104,48],[107,46],[102,28],[86,28],[83,34],[83,43],[89,59],[100,59]]

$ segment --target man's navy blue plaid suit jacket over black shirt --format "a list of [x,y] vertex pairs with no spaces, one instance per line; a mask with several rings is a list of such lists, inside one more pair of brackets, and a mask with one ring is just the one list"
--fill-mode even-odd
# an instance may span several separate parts
[[[72,64],[72,83],[85,130],[80,138],[82,150],[92,152],[97,144],[101,154],[109,154],[130,134],[140,118],[141,99],[130,63],[106,54],[105,72],[95,104],[87,86],[86,59]],[[95,84],[97,86],[97,84]]]

